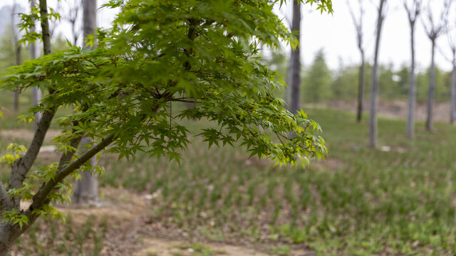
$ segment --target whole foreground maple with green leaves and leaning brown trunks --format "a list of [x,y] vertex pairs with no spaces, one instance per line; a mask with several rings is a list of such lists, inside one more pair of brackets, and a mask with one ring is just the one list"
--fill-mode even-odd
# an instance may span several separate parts
[[[315,3],[332,11],[330,1]],[[11,164],[11,176],[7,189],[0,183],[0,256],[8,255],[40,215],[58,215],[52,202],[68,200],[67,176],[78,178],[81,166],[103,171],[92,169],[88,161],[107,146],[106,151],[120,158],[144,151],[180,161],[190,135],[180,119],[204,118],[218,124],[217,129],[199,131],[209,146],[239,141],[252,156],[279,164],[309,164],[311,158],[326,154],[316,133],[318,124],[302,111],[291,114],[284,109],[273,93],[283,84],[258,57],[258,41],[279,48],[281,41],[296,40],[272,12],[271,1],[130,0],[107,6],[122,11],[113,28],[100,31],[98,48],[50,54],[48,16],[54,15],[48,14],[46,0],[40,0],[39,16],[31,15],[41,20],[45,56],[0,80],[4,89],[40,84],[47,90],[41,104],[29,110],[43,113],[30,146],[11,144],[11,154],[1,156],[3,163]],[[28,28],[30,16],[23,20]],[[189,29],[197,31],[193,41]],[[186,102],[187,97],[194,98],[197,107],[177,117],[170,113],[170,103]],[[58,119],[64,129],[54,139],[60,161],[29,173],[56,111],[71,102],[80,111]],[[94,141],[81,152],[77,149],[83,137]],[[21,210],[21,200],[31,201],[30,206]]]

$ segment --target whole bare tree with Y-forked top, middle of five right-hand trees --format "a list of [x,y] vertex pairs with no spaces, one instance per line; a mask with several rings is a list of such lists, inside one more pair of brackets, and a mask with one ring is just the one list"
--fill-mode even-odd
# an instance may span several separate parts
[[415,105],[416,105],[416,79],[415,79],[415,23],[420,16],[422,0],[413,0],[411,3],[404,0],[410,25],[410,89],[408,94],[407,137],[415,137]]

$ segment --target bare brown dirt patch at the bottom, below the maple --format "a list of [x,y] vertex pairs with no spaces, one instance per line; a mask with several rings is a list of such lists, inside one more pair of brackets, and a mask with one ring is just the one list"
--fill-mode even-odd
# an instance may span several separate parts
[[[182,230],[151,223],[150,204],[152,195],[118,188],[101,188],[103,202],[98,207],[61,206],[57,210],[71,215],[73,223],[83,225],[88,218],[106,220],[108,234],[103,240],[101,255],[133,256],[192,256],[197,244],[212,251],[214,256],[266,256],[269,245],[224,244],[210,242],[189,235]],[[292,250],[291,256],[314,255],[307,250]]]

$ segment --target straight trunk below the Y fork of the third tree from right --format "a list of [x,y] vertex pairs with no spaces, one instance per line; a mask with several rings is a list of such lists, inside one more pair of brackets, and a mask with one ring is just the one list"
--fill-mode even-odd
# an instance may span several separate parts
[[416,105],[416,82],[415,82],[415,21],[410,22],[410,50],[412,60],[410,63],[410,88],[408,91],[408,117],[407,137],[415,137],[415,105]]

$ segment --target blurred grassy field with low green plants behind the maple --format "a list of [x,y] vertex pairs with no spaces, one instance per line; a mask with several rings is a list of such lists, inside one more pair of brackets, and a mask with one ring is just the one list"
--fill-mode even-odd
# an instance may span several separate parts
[[[373,150],[367,122],[356,124],[354,114],[306,111],[323,128],[326,162],[279,168],[248,159],[242,147],[207,149],[192,137],[180,166],[142,154],[134,162],[103,156],[100,183],[152,194],[152,223],[209,240],[274,245],[275,255],[293,247],[317,255],[456,254],[456,127],[435,124],[429,133],[418,123],[410,141],[403,120],[380,119],[383,150]],[[12,115],[0,124],[16,127]],[[0,146],[9,141],[1,138]],[[94,239],[103,239],[100,232]],[[86,255],[97,255],[98,246]]]

